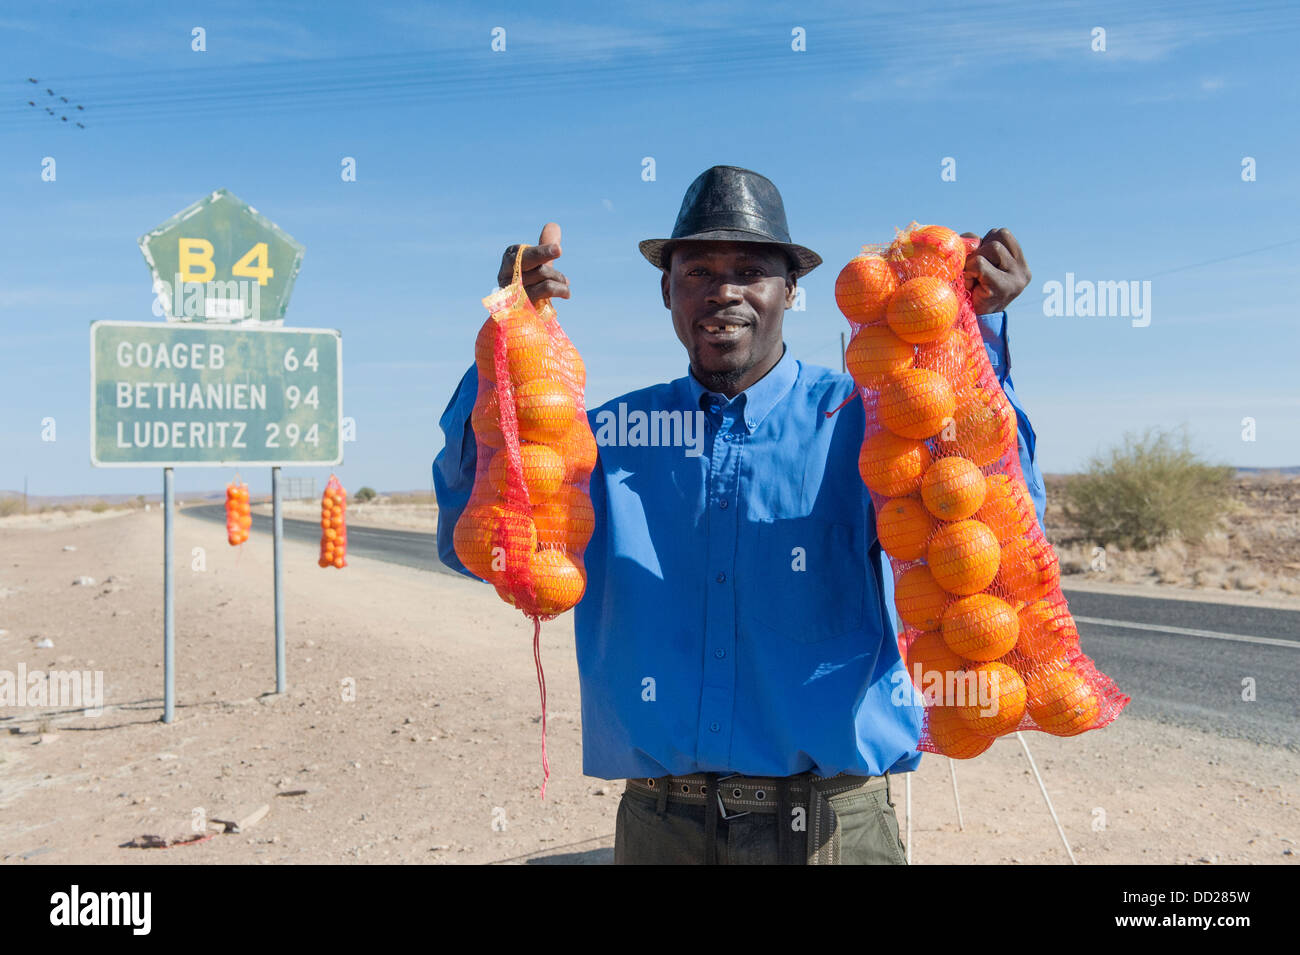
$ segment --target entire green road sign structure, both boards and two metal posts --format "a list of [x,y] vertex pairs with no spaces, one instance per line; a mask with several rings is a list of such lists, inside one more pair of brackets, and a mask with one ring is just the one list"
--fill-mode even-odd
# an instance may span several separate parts
[[343,460],[343,342],[281,327],[303,247],[226,190],[139,238],[165,322],[91,322],[96,468],[162,468],[162,721],[176,719],[173,468],[269,465],[276,693],[283,693],[280,468]]

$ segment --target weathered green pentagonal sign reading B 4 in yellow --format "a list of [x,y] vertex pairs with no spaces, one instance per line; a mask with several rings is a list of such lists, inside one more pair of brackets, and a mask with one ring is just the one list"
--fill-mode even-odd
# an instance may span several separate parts
[[283,322],[303,247],[218,188],[140,236],[168,321]]

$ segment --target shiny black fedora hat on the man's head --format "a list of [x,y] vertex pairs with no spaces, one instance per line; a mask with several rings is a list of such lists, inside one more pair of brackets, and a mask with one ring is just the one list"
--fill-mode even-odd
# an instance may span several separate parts
[[822,256],[790,242],[785,203],[772,181],[740,166],[706,169],[690,183],[672,236],[646,239],[641,255],[663,268],[663,256],[677,242],[760,242],[780,246],[794,259],[794,275],[806,275],[822,264]]

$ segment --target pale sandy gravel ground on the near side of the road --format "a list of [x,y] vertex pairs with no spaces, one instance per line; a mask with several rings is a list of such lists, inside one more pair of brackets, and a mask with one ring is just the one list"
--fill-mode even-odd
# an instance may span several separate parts
[[[621,785],[581,774],[568,618],[542,635],[542,802],[530,625],[491,590],[360,557],[322,570],[313,547],[287,541],[290,690],[276,696],[270,542],[233,551],[218,525],[182,515],[176,546],[178,708],[164,725],[157,511],[0,530],[0,669],[99,669],[107,704],[98,717],[0,709],[0,860],[611,859]],[[1082,863],[1290,863],[1300,851],[1300,755],[1124,716],[1028,741]],[[1065,861],[1014,738],[956,765],[965,830],[949,763],[927,758],[914,774],[915,863]],[[894,794],[902,816],[901,782]],[[243,833],[121,847],[263,804]]]

